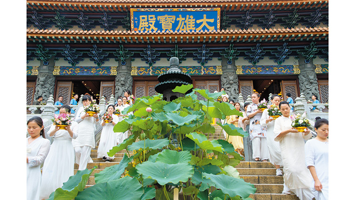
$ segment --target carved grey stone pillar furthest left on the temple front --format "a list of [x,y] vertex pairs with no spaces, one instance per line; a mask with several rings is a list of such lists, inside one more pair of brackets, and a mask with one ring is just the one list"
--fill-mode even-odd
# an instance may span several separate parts
[[44,65],[43,61],[40,62],[38,67],[38,75],[36,80],[35,99],[38,96],[43,96],[43,100],[47,101],[50,95],[54,95],[55,77],[54,71],[54,57],[49,59],[48,65]]

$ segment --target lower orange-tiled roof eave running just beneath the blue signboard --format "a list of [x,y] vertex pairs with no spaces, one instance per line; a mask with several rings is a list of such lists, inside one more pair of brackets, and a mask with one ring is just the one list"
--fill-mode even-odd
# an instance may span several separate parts
[[[245,41],[297,41],[327,40],[328,27],[296,29],[250,29],[218,30],[211,32],[131,32],[131,31],[61,31],[61,30],[27,30],[27,40],[36,42],[245,42]],[[149,41],[148,41],[149,40]]]

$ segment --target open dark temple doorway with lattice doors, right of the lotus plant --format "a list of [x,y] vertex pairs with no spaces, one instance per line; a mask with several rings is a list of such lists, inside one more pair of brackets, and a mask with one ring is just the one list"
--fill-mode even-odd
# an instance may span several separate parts
[[279,94],[286,100],[286,93],[290,93],[293,100],[299,96],[297,76],[238,76],[239,92],[244,101],[253,92],[260,94],[260,101],[265,98],[268,101],[269,94]]

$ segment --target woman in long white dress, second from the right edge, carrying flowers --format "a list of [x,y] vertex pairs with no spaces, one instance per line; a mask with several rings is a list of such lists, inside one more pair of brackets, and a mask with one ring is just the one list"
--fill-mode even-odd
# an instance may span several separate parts
[[302,133],[292,128],[293,117],[290,116],[291,108],[286,101],[280,102],[279,108],[283,116],[275,120],[274,134],[275,141],[280,142],[284,184],[300,200],[312,200],[312,176],[306,167],[304,150],[304,140],[310,139],[312,134],[308,128]]

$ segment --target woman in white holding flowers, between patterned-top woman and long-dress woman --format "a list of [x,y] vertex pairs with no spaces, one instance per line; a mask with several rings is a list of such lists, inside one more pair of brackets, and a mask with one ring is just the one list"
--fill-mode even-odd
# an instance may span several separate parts
[[[275,119],[272,118],[271,116],[273,115],[278,115],[281,116],[282,113],[279,110],[279,104],[281,101],[281,97],[277,94],[274,94],[271,96],[271,103],[272,105],[268,105],[268,109],[265,109],[263,111],[263,114],[260,119],[260,124],[262,126],[267,127],[267,133],[266,133],[266,142],[269,148],[269,153],[270,153],[270,162],[275,165],[276,168],[276,175],[277,176],[282,176],[283,173],[280,169],[280,165],[283,165],[282,162],[282,156],[281,156],[281,149],[280,149],[280,143],[276,142],[274,140],[275,135],[274,135],[274,125],[275,125]],[[289,191],[289,189],[284,185],[284,192]]]

